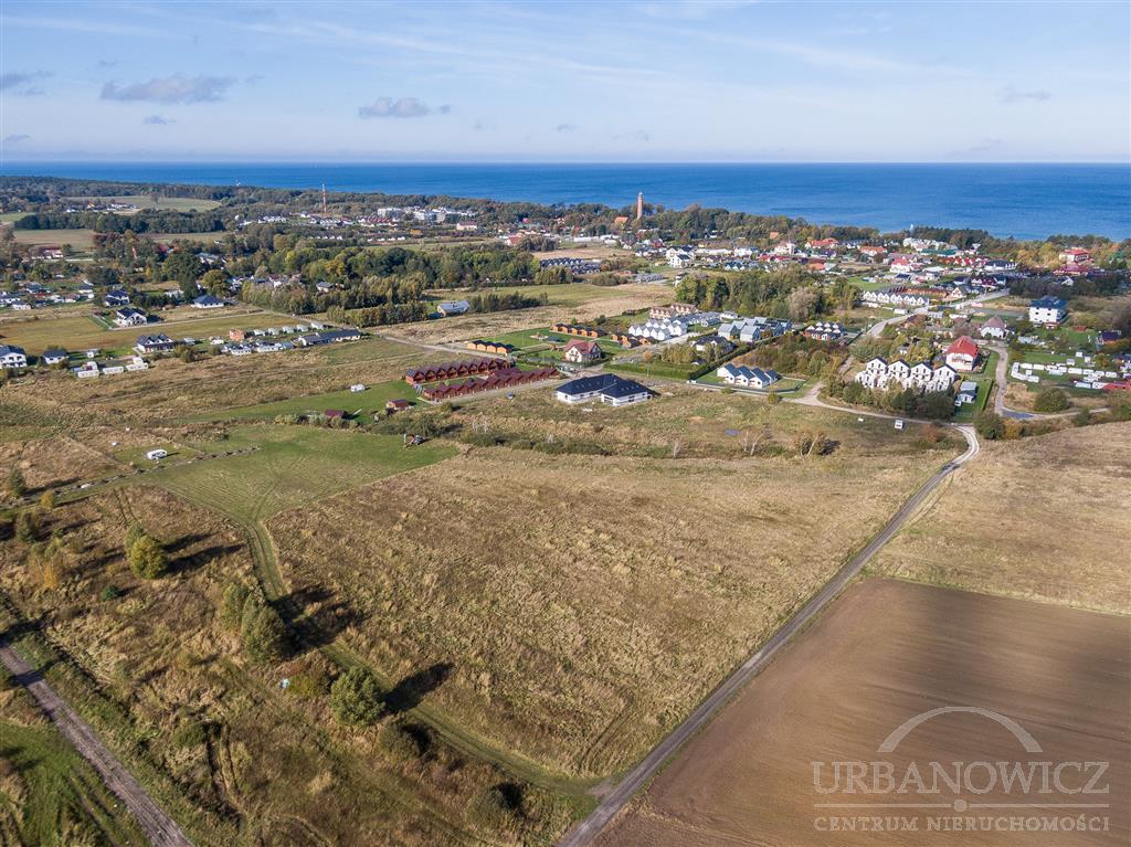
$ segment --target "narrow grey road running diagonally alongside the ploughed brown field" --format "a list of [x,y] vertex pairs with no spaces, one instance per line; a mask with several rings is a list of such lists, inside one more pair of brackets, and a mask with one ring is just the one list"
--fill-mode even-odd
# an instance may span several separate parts
[[826,586],[802,606],[801,611],[791,617],[782,629],[762,645],[757,652],[748,658],[731,676],[723,682],[710,695],[703,700],[699,707],[691,712],[688,718],[680,724],[672,733],[657,744],[639,764],[630,770],[623,779],[610,792],[593,813],[570,830],[558,847],[585,847],[593,844],[605,826],[616,816],[616,814],[628,805],[629,801],[639,792],[644,785],[651,779],[672,755],[679,751],[683,744],[696,733],[702,729],[723,708],[724,705],[742,689],[751,677],[758,674],[771,658],[780,650],[798,631],[801,631],[813,617],[836,597],[845,586],[851,582],[861,569],[875,555],[875,553],[887,544],[891,537],[899,531],[907,519],[923,503],[927,495],[934,491],[939,484],[960,466],[973,459],[978,452],[978,440],[970,426],[956,426],[966,439],[967,449],[958,458],[948,461],[934,475],[927,479],[923,486],[916,491],[884,525],[883,529],[867,543],[860,553],[853,556]]

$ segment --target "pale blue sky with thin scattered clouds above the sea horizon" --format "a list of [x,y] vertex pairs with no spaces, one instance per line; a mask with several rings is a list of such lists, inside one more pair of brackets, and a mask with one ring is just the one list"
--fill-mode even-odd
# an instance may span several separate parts
[[1131,3],[20,2],[17,159],[1131,158]]

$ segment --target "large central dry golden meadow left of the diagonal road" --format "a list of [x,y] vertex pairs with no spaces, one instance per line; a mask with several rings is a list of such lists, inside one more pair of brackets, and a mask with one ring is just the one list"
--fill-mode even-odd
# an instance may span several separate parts
[[[658,404],[657,404],[658,405]],[[634,761],[820,587],[948,449],[649,460],[474,449],[268,522],[391,679],[551,771]]]

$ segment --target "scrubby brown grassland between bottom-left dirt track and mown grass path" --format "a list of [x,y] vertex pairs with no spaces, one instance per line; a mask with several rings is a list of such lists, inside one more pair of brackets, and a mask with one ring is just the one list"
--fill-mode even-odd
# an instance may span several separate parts
[[[135,520],[165,542],[169,576],[130,572],[121,544]],[[45,531],[68,551],[60,584],[45,585],[24,545],[0,545],[0,628],[12,626],[12,610],[35,622],[32,634],[10,630],[19,649],[201,847],[545,844],[568,824],[569,806],[534,788],[521,820],[485,824],[470,802],[504,781],[492,766],[435,740],[405,760],[381,745],[381,726],[338,725],[326,698],[337,668],[318,651],[250,664],[217,608],[230,581],[253,582],[252,556],[215,512],[131,486],[57,507]],[[0,691],[0,728],[7,698]],[[17,787],[0,766],[0,828]],[[103,841],[67,844],[79,842]]]

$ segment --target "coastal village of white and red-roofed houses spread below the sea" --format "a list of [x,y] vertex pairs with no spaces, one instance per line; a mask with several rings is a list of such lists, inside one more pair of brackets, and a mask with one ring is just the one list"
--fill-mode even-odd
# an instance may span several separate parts
[[[109,200],[70,206],[67,211],[132,215],[139,209]],[[317,227],[349,233],[363,242],[372,231],[389,228],[399,233],[397,239],[449,234],[459,243],[458,239],[490,235],[476,217],[473,209],[390,206],[357,216],[300,211],[251,219],[238,215],[235,224],[238,230]],[[555,280],[566,285],[585,285],[599,277],[604,284],[670,286],[680,294],[699,291],[697,279],[711,274],[788,269],[812,279],[811,291],[823,289],[823,311],[810,310],[805,319],[795,320],[668,302],[602,316],[592,326],[558,321],[494,337],[477,331],[475,337],[446,346],[452,353],[467,351],[490,358],[456,362],[450,372],[435,371],[432,379],[413,371],[406,379],[416,401],[466,401],[554,381],[559,382],[555,396],[563,403],[615,407],[654,398],[662,392],[663,381],[673,379],[703,390],[802,398],[817,390],[814,374],[779,372],[765,354],[786,339],[826,351],[838,363],[837,381],[855,387],[847,396],[841,391],[838,401],[870,405],[897,391],[940,395],[948,398],[948,407],[932,403],[931,416],[942,418],[970,420],[986,408],[994,390],[1004,396],[1010,383],[1035,390],[1055,387],[1080,397],[1131,388],[1122,330],[1090,318],[1087,325],[1076,323],[1065,299],[1080,280],[1105,273],[1086,248],[1064,247],[1051,267],[1041,268],[995,257],[977,243],[958,247],[916,235],[897,241],[828,236],[802,242],[771,231],[758,247],[720,243],[724,240],[710,236],[673,245],[650,232],[647,223],[641,196],[634,219],[618,217],[612,233],[582,235],[525,225],[499,227],[491,237],[507,249],[536,242],[542,248],[536,253],[538,273],[556,274]],[[12,319],[27,316],[34,323],[5,320],[0,325],[0,364],[11,377],[49,369],[69,370],[75,378],[88,380],[137,373],[166,357],[192,362],[286,354],[382,334],[381,329],[335,325],[327,313],[286,316],[256,309],[250,305],[256,297],[249,293],[277,299],[309,289],[316,296],[333,296],[342,285],[297,274],[228,273],[228,259],[206,247],[202,241],[192,257],[201,274],[195,280],[198,284],[148,291],[96,285],[83,273],[81,262],[68,261],[68,251],[50,244],[31,248],[24,259],[27,270],[10,275],[10,288],[0,292],[0,313],[8,311]],[[184,248],[164,250],[167,257]],[[49,268],[74,270],[40,273]],[[1013,293],[1034,279],[1045,280],[1045,288],[1051,286],[1065,296]],[[438,292],[425,302],[421,310],[425,319],[446,321],[473,312],[472,297],[446,293]],[[85,316],[84,331],[77,335],[96,335],[100,344],[50,331],[51,314],[76,310]],[[36,329],[33,345],[17,340],[20,326]],[[92,332],[95,328],[104,331]],[[883,352],[877,353],[881,346]],[[478,361],[498,361],[503,366],[481,372]],[[560,382],[569,377],[575,379]],[[998,408],[1005,406],[1000,403]]]

